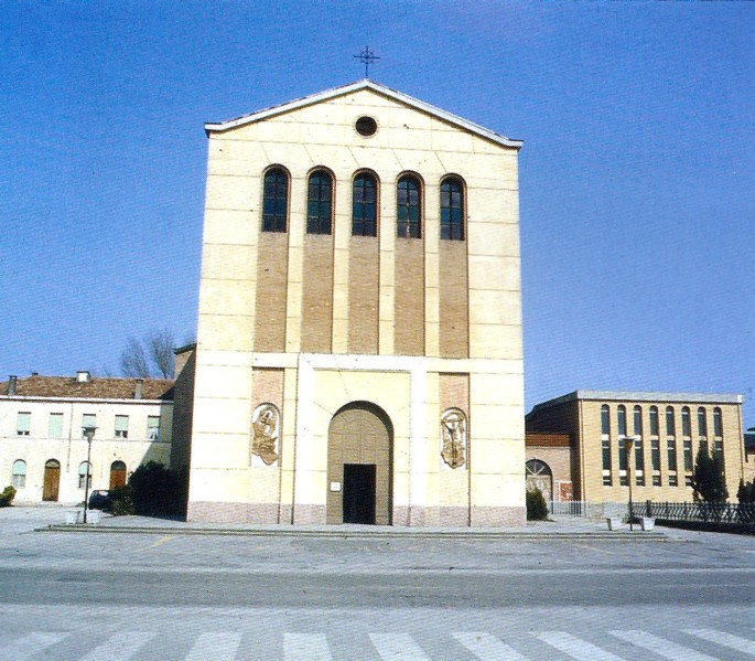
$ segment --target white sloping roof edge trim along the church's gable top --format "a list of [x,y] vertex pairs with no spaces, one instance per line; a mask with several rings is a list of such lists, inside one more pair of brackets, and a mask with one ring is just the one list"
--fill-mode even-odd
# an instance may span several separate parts
[[345,96],[354,92],[359,92],[360,89],[371,89],[376,94],[380,94],[400,104],[403,104],[422,113],[427,113],[428,115],[438,117],[443,121],[446,121],[459,128],[465,129],[482,138],[490,140],[492,142],[503,145],[504,147],[515,147],[516,149],[519,149],[522,146],[521,140],[513,140],[510,138],[506,138],[505,136],[500,136],[489,129],[486,129],[485,127],[482,127],[472,121],[467,121],[462,117],[459,117],[451,113],[446,113],[441,108],[436,108],[435,106],[425,104],[424,102],[416,99],[407,94],[402,94],[400,92],[397,92],[396,89],[390,89],[389,87],[385,87],[384,85],[380,85],[367,78],[365,78],[364,81],[357,81],[356,83],[352,83],[350,85],[344,85],[343,87],[334,87],[333,89],[327,89],[325,92],[320,92],[319,94],[305,96],[303,98],[299,98],[287,104],[282,104],[280,106],[266,108],[265,110],[259,110],[250,115],[244,115],[241,117],[237,117],[236,119],[230,119],[228,121],[207,122],[205,124],[205,131],[207,132],[207,135],[227,131],[239,126],[246,126],[248,124],[254,124],[255,121],[260,121],[269,117],[274,117],[276,115],[282,115],[283,113],[289,113],[298,108],[303,108],[325,100],[330,100],[332,98],[336,98],[338,96]]

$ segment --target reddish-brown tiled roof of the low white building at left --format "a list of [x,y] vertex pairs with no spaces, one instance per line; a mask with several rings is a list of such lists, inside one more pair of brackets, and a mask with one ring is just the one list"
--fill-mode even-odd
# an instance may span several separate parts
[[[75,376],[26,376],[15,385],[17,397],[66,397],[77,399],[133,399],[137,379],[91,376],[80,382]],[[8,381],[0,383],[0,396],[8,395]],[[173,381],[144,379],[142,399],[173,399]]]

